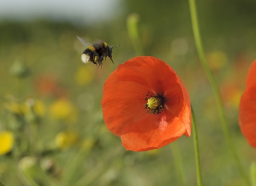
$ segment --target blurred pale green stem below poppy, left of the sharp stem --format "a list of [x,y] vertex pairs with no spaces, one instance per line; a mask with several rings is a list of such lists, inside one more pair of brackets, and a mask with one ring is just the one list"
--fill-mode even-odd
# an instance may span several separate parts
[[180,148],[179,148],[177,141],[174,141],[171,143],[171,150],[172,150],[174,167],[177,172],[177,175],[178,175],[178,178],[180,181],[180,185],[185,186],[187,184],[186,184],[186,179],[185,179],[185,175],[184,175],[184,171],[183,171],[183,164],[182,164],[182,158],[181,158],[181,154],[180,154]]

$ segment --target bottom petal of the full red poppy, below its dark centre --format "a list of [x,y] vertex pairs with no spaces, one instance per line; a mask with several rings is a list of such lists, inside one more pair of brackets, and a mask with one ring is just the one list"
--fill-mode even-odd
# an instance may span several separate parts
[[178,117],[175,117],[172,122],[167,122],[166,115],[160,113],[126,126],[121,133],[121,139],[127,150],[153,150],[178,139],[185,130]]

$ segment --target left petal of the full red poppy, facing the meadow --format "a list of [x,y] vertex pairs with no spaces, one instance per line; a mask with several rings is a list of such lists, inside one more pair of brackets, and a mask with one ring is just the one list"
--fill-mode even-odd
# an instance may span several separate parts
[[148,116],[145,97],[148,89],[132,81],[119,81],[117,71],[110,74],[103,87],[101,100],[107,128],[120,136],[122,129]]

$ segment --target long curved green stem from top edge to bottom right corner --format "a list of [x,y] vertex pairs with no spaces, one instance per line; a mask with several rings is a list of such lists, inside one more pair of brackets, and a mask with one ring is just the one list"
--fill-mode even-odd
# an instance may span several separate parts
[[227,125],[227,119],[226,119],[226,116],[225,116],[223,103],[222,103],[222,99],[221,99],[221,96],[220,96],[220,92],[219,92],[217,83],[216,83],[216,81],[213,77],[213,74],[210,70],[209,64],[207,63],[205,55],[204,55],[204,50],[203,50],[203,46],[202,46],[202,41],[201,41],[201,36],[200,36],[198,21],[197,21],[197,12],[196,12],[195,0],[189,0],[189,9],[190,9],[191,22],[192,22],[192,27],[193,27],[193,32],[194,32],[194,39],[195,39],[195,44],[196,44],[196,48],[197,48],[197,53],[199,55],[201,63],[204,67],[204,70],[207,74],[207,77],[208,77],[208,79],[210,81],[210,84],[212,86],[212,89],[214,91],[214,96],[217,99],[222,130],[225,134],[225,138],[226,138],[228,146],[231,150],[231,153],[234,156],[234,159],[236,161],[238,170],[239,170],[239,172],[240,172],[240,174],[243,178],[244,185],[249,185],[249,179],[247,178],[247,175],[244,171],[241,160],[239,159],[238,154],[235,150],[233,141],[231,140],[230,132],[229,132],[228,125]]

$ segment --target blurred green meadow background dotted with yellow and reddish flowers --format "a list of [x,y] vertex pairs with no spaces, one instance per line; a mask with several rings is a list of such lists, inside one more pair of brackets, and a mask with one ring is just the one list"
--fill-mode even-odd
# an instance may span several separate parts
[[[140,53],[171,65],[189,91],[198,125],[203,184],[242,185],[198,60],[188,1],[114,4],[108,18],[91,14],[83,21],[54,16],[0,20],[0,180],[18,186],[196,185],[192,137],[135,153],[126,151],[104,124],[103,83],[118,64],[138,55],[127,31],[127,19],[133,16],[138,19],[135,45]],[[92,6],[95,14],[97,6]],[[248,175],[256,151],[242,136],[237,113],[247,71],[256,58],[254,7],[255,1],[197,1],[205,54]],[[91,43],[101,39],[120,44],[113,49],[115,64],[108,58],[103,71],[92,63],[83,64],[86,47],[76,35]],[[183,177],[175,156],[182,159]]]

